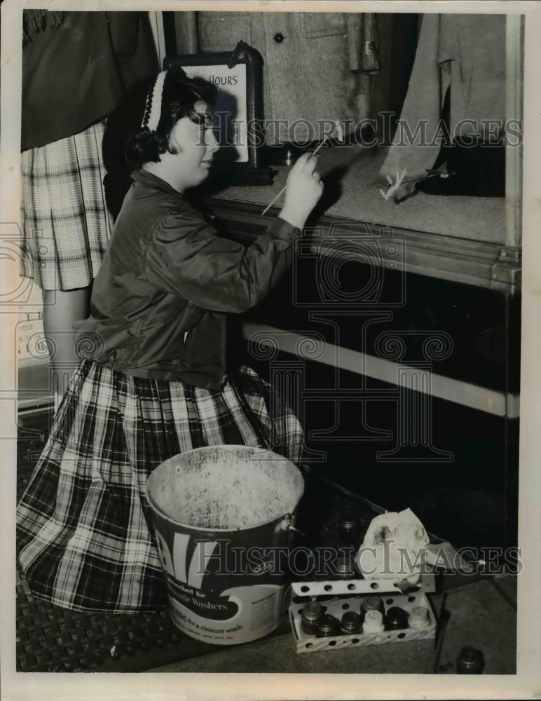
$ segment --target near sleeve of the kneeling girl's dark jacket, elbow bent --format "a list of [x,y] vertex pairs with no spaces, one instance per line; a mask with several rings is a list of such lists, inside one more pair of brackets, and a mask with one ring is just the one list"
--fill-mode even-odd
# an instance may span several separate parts
[[300,231],[276,217],[252,245],[221,238],[192,212],[158,226],[146,258],[146,279],[203,309],[247,311],[263,299],[289,267]]

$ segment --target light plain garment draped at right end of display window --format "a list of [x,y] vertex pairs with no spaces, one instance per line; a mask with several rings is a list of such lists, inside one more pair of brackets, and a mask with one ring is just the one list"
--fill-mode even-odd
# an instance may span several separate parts
[[461,136],[479,133],[487,139],[482,122],[504,121],[505,15],[424,15],[400,119],[409,125],[412,135],[425,120],[427,141],[434,143],[424,147],[399,144],[397,130],[381,175],[394,177],[397,168],[407,168],[406,179],[424,177],[426,169],[432,168],[441,146],[433,137],[438,133],[448,88],[451,137],[455,132]]

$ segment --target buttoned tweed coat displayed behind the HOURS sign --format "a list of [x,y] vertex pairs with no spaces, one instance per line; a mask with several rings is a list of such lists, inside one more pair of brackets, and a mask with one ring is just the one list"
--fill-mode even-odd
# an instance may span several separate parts
[[370,75],[379,70],[374,14],[199,12],[197,41],[191,14],[177,13],[179,53],[232,51],[240,39],[261,53],[265,119],[289,123],[267,128],[268,143],[319,139],[318,120],[356,125],[370,116]]

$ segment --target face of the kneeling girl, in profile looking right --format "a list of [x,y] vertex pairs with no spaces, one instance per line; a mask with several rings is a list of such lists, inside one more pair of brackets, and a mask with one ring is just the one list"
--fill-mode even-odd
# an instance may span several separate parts
[[196,102],[193,109],[204,117],[202,123],[196,124],[183,117],[170,134],[170,145],[177,151],[174,155],[175,170],[178,167],[175,175],[183,189],[199,185],[207,178],[212,158],[219,149],[207,104]]

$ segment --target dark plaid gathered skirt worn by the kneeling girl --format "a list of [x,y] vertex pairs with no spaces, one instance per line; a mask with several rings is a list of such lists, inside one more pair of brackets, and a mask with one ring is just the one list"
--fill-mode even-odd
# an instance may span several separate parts
[[303,433],[247,367],[211,391],[81,360],[17,508],[17,552],[33,594],[76,611],[167,605],[146,479],[171,456],[218,444],[299,462]]

